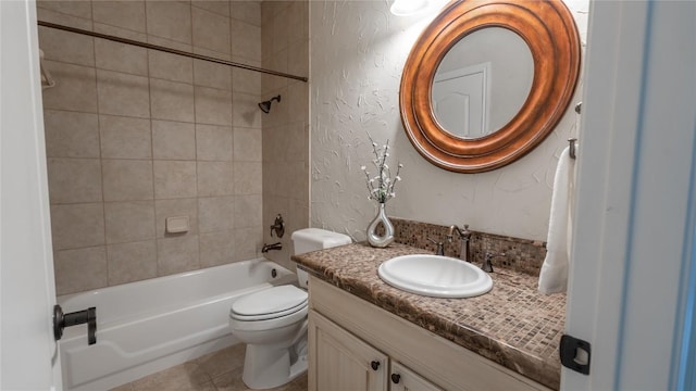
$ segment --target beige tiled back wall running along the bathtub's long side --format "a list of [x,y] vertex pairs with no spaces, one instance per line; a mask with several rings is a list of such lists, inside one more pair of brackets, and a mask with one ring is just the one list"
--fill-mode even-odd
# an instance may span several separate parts
[[[261,66],[258,1],[39,1],[38,16]],[[45,27],[39,46],[57,81],[44,104],[58,294],[257,256],[260,74]],[[277,115],[297,92],[271,85]],[[270,125],[306,134],[283,119]],[[190,229],[167,234],[171,216]]]

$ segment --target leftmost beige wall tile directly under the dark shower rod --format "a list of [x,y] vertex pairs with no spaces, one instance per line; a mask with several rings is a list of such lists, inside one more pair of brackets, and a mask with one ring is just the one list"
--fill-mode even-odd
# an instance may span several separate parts
[[39,42],[45,60],[95,65],[95,39],[91,37],[39,26]]

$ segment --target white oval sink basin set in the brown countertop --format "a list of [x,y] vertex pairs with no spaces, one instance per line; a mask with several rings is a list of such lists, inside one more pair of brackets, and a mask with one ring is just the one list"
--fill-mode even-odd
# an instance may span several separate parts
[[433,298],[471,298],[493,288],[487,273],[449,256],[397,256],[383,262],[377,273],[395,288]]

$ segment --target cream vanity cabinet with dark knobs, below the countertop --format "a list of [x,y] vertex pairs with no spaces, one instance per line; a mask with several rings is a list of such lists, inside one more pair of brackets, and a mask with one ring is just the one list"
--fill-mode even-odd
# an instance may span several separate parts
[[309,294],[309,391],[550,390],[314,276]]

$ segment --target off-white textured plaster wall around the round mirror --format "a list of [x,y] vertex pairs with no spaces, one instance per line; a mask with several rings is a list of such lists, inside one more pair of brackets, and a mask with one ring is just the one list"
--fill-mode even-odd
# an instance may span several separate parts
[[[584,41],[587,1],[568,4]],[[376,211],[360,171],[371,161],[368,131],[377,142],[388,139],[390,159],[405,165],[389,215],[545,240],[558,155],[576,135],[574,104],[540,146],[511,165],[482,174],[431,165],[403,133],[398,91],[411,45],[434,13],[397,17],[388,5],[310,2],[311,225],[364,239]]]

